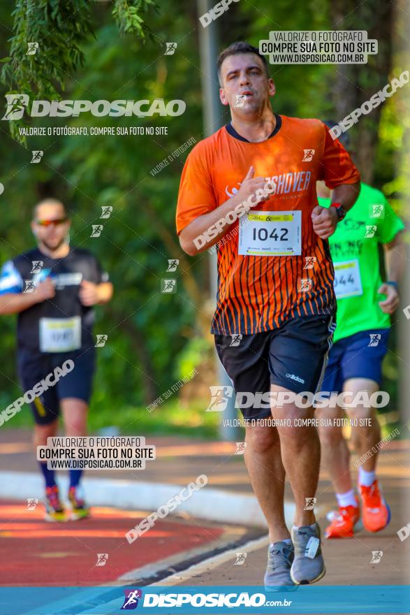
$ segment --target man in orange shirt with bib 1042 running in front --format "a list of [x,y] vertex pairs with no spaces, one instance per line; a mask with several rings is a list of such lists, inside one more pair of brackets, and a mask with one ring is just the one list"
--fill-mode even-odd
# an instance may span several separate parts
[[[219,55],[218,73],[232,119],[186,160],[177,233],[191,256],[217,244],[211,331],[235,391],[271,393],[272,407],[255,402],[241,410],[256,419],[247,426],[245,461],[268,521],[264,581],[274,591],[325,574],[319,526],[307,506],[319,479],[319,437],[314,426],[295,425],[314,412],[283,398],[320,390],[336,310],[328,237],[356,201],[360,176],[323,122],[273,113],[274,82],[256,48],[233,43]],[[329,209],[318,205],[319,179],[332,190]],[[233,335],[242,336],[239,345],[231,345]],[[264,420],[271,416],[277,426]],[[291,535],[285,473],[296,505]]]

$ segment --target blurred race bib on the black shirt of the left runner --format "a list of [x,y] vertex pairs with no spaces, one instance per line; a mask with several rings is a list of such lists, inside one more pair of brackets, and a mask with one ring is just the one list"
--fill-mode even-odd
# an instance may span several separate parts
[[81,348],[81,318],[41,318],[41,352],[70,352]]

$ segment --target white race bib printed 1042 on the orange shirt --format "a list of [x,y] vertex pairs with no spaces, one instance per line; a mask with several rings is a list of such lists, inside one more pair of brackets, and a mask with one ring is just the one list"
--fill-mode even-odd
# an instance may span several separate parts
[[240,219],[238,254],[300,256],[302,212],[248,212]]

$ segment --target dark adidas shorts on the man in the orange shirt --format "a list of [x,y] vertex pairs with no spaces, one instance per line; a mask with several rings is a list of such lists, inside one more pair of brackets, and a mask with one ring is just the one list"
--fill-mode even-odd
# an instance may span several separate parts
[[[293,393],[316,393],[335,328],[334,317],[298,317],[272,331],[242,335],[238,345],[235,335],[215,335],[215,346],[236,393],[266,393],[270,384]],[[265,407],[240,410],[249,420],[265,419],[271,414]]]

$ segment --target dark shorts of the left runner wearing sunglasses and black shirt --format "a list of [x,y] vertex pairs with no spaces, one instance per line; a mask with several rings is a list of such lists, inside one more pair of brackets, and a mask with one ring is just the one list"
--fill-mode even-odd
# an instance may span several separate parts
[[61,368],[68,359],[74,362],[73,370],[61,376],[54,386],[30,404],[38,425],[48,425],[59,417],[61,399],[71,397],[89,403],[95,371],[95,348],[91,346],[73,352],[47,354],[20,350],[17,355],[17,369],[24,392],[33,389],[37,382],[41,382],[55,368]]

